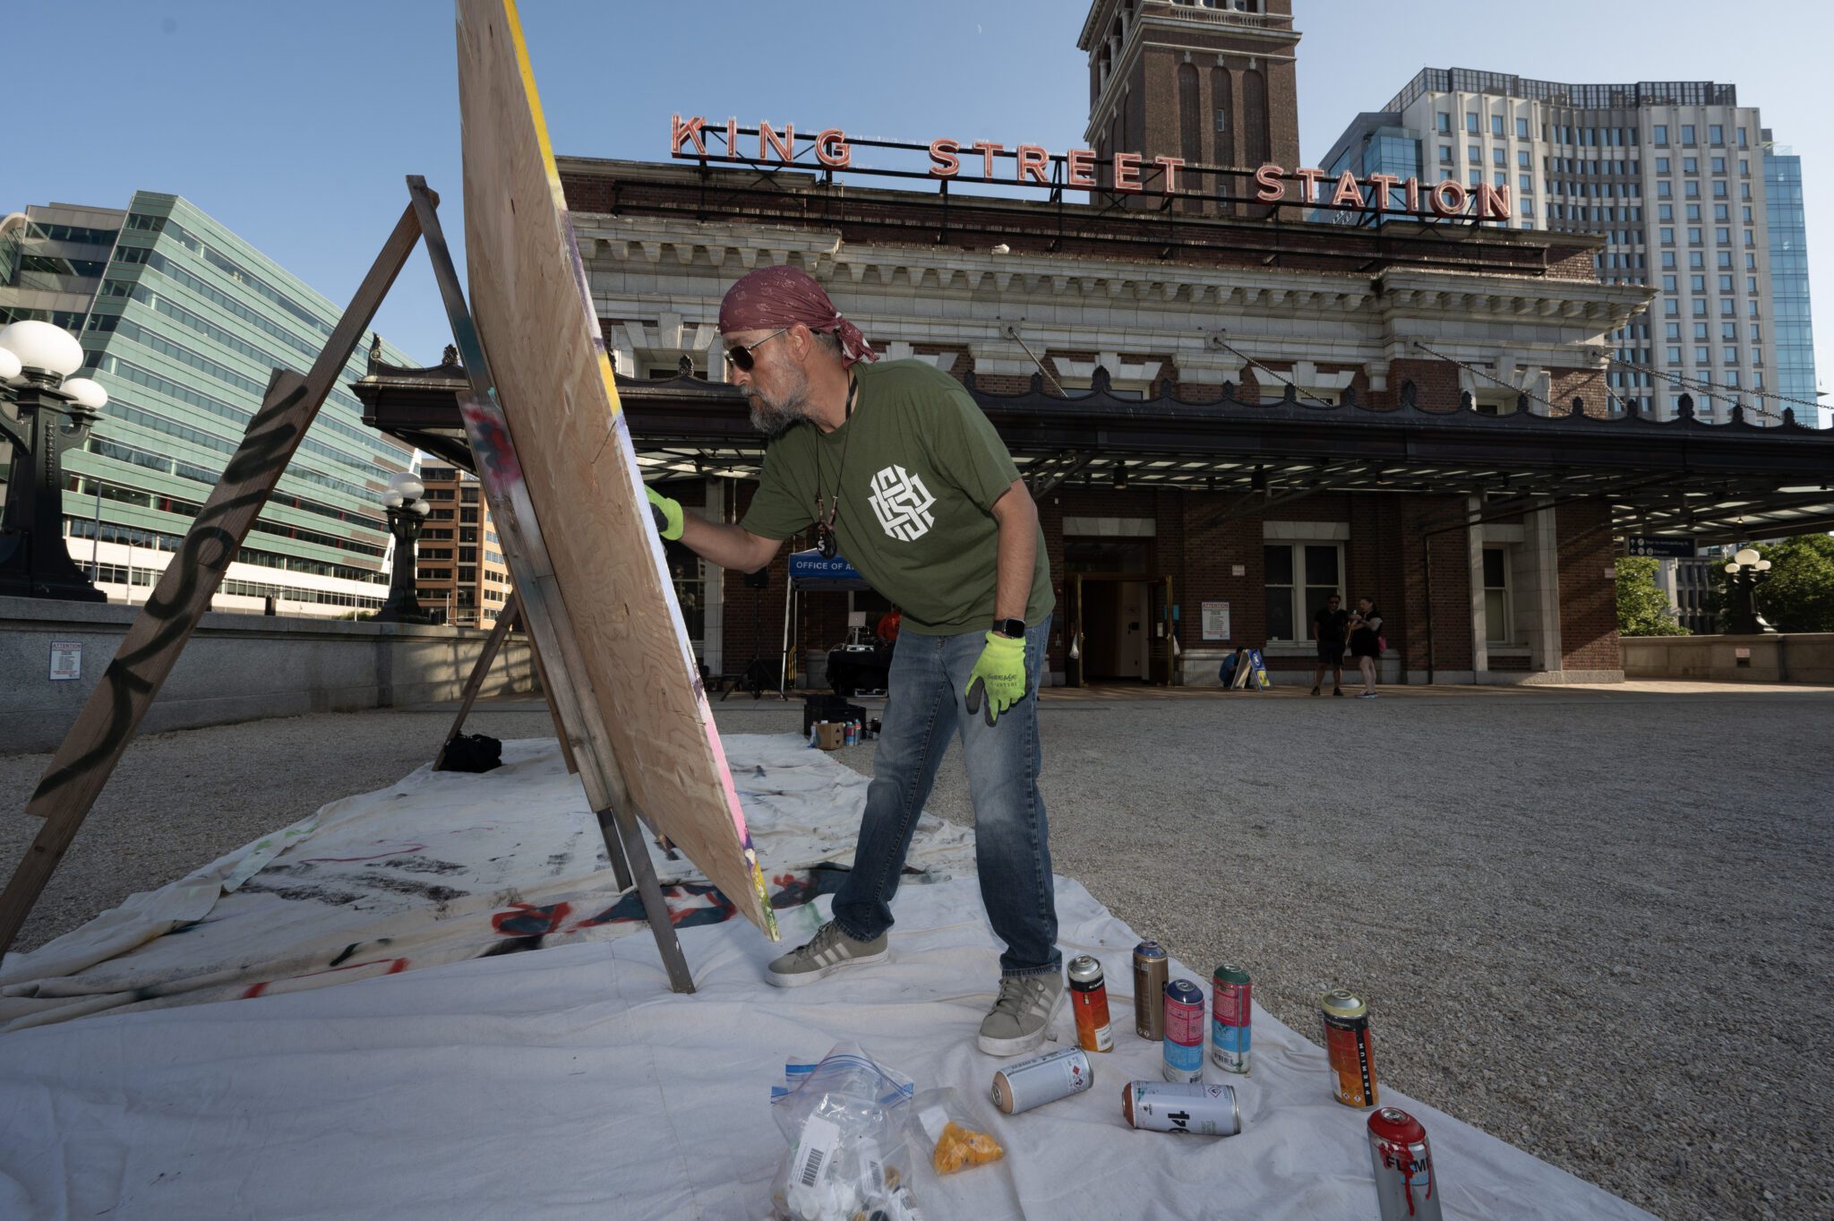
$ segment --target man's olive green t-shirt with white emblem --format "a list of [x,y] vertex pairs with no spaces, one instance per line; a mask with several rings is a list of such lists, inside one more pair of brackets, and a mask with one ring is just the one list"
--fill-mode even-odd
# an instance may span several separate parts
[[[840,554],[930,636],[994,622],[1000,524],[989,512],[1020,477],[1005,442],[967,389],[924,361],[853,367],[853,418],[833,433],[796,424],[765,449],[757,495],[741,522],[767,539],[814,524],[816,488],[833,502]],[[818,471],[820,466],[820,471]],[[1025,622],[1056,596],[1038,532]]]

